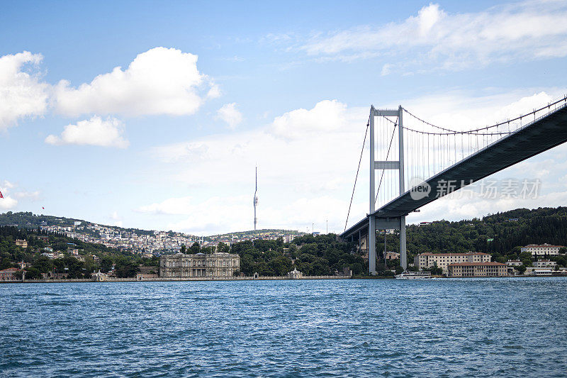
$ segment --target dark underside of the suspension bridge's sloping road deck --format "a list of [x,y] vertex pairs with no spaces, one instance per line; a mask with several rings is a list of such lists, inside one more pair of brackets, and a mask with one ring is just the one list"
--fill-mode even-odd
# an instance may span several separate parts
[[[458,190],[461,189],[461,182],[476,182],[566,141],[567,106],[564,105],[427,179],[427,184],[431,186],[429,196],[414,200],[408,190],[376,210],[374,216],[396,218],[408,215],[439,198],[438,188],[449,180],[451,184],[454,183],[454,190]],[[366,216],[341,236],[348,238],[359,231],[366,235],[368,226],[369,218]]]

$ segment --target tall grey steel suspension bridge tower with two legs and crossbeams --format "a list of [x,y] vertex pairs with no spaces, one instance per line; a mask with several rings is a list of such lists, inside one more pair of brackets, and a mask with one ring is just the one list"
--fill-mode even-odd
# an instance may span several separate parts
[[[398,118],[398,160],[396,161],[376,161],[375,152],[375,130],[374,117],[397,117]],[[403,269],[408,269],[408,254],[405,243],[405,216],[398,218],[379,218],[374,214],[376,211],[376,169],[398,169],[400,196],[405,192],[404,187],[404,149],[403,149],[403,108],[398,106],[398,110],[392,109],[370,109],[370,212],[368,230],[368,250],[369,250],[369,271],[376,274],[376,230],[400,230],[400,265]],[[386,232],[384,233],[386,235]],[[385,236],[386,237],[386,236]]]

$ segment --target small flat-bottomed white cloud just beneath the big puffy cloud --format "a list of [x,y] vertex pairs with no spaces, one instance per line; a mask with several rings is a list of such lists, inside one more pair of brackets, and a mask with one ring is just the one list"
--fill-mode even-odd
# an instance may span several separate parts
[[45,143],[50,145],[99,145],[102,147],[127,148],[130,144],[123,138],[123,123],[116,118],[103,120],[94,116],[65,126],[60,136],[48,135]]

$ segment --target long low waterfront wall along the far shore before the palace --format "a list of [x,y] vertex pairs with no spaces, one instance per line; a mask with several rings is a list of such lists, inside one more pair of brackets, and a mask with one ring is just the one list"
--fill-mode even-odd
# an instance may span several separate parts
[[[293,279],[350,279],[349,276],[304,276],[301,278]],[[57,283],[57,282],[172,282],[172,281],[262,281],[262,280],[283,280],[291,279],[288,277],[271,277],[271,276],[260,276],[254,277],[186,277],[186,278],[167,278],[167,277],[155,277],[146,279],[132,278],[115,278],[108,277],[103,281],[95,281],[89,278],[72,278],[72,279],[26,279],[26,281],[3,281],[2,284],[45,284],[45,283]]]

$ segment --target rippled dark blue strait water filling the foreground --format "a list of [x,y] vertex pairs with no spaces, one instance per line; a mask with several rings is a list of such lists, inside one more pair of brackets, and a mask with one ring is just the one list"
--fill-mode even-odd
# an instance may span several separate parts
[[567,279],[0,285],[0,376],[565,377]]

